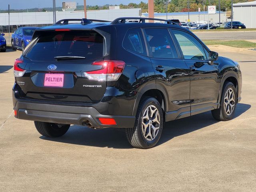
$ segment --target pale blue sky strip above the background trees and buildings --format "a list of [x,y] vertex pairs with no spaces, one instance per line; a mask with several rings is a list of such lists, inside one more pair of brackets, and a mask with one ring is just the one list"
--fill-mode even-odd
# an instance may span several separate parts
[[[56,7],[61,7],[62,2],[76,2],[78,5],[83,5],[84,0],[56,0]],[[139,3],[148,2],[148,0],[86,0],[87,5],[105,5],[105,4],[129,4],[129,3]],[[26,9],[26,8],[40,8],[52,7],[52,0],[0,0],[0,9],[8,9],[8,4],[10,4],[10,9]]]

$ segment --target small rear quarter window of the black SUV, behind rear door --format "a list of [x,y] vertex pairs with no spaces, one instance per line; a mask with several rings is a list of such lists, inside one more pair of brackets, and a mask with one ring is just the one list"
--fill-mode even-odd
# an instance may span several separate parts
[[140,28],[134,28],[127,31],[124,37],[123,47],[127,50],[147,55],[146,46]]

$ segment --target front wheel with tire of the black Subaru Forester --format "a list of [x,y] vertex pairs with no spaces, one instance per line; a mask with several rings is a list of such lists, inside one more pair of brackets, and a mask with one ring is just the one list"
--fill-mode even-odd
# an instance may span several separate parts
[[212,116],[219,121],[231,120],[235,114],[236,104],[236,88],[232,82],[225,82],[221,95],[220,108],[212,110]]

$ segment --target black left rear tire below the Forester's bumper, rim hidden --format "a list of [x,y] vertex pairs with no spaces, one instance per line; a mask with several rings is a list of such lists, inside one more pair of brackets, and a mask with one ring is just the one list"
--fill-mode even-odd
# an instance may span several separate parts
[[62,125],[59,127],[56,123],[40,122],[35,121],[36,130],[43,136],[46,137],[60,137],[64,135],[70,125]]

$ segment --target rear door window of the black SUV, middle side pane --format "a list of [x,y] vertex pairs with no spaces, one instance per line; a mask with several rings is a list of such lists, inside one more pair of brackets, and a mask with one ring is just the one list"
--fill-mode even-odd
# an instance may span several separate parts
[[152,58],[178,58],[168,29],[144,29],[148,50]]

